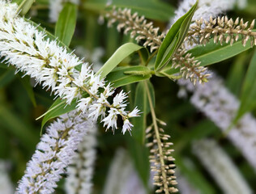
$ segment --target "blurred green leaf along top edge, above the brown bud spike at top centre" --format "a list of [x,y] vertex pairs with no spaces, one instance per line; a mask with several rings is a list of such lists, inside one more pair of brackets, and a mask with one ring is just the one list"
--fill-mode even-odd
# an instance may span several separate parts
[[[131,9],[139,15],[144,15],[148,19],[168,22],[173,16],[174,7],[169,3],[160,0],[113,0],[110,8],[113,6]],[[83,3],[84,9],[89,11],[102,12],[105,10],[107,0],[87,0]]]

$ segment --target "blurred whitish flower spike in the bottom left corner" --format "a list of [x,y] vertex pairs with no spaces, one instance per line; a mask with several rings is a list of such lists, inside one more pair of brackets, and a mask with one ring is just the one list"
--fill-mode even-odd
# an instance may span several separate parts
[[8,172],[6,171],[6,169],[8,169],[8,165],[8,162],[2,159],[0,160],[0,193],[13,194],[14,188]]

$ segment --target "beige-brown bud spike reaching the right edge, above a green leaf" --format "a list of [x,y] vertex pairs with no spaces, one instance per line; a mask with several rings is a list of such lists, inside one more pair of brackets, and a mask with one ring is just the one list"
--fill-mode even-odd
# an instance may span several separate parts
[[216,19],[210,17],[209,21],[201,18],[195,20],[194,25],[190,27],[187,39],[190,44],[207,44],[212,37],[214,43],[223,44],[225,42],[231,45],[241,39],[243,46],[248,40],[250,40],[251,46],[254,46],[256,45],[256,32],[252,32],[254,23],[253,20],[249,25],[248,22],[239,18],[233,21],[227,16]]

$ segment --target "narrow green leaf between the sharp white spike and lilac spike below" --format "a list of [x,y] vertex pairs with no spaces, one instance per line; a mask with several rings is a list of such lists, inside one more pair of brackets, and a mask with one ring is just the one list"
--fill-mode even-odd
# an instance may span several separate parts
[[[75,110],[76,108],[76,101],[73,100],[72,103],[70,103],[70,105],[66,104],[66,100],[62,100],[62,99],[56,99],[54,101],[54,103],[52,104],[52,106],[49,108],[49,110],[47,112],[45,112],[44,118],[42,120],[41,123],[41,130],[43,129],[43,127],[45,126],[46,122],[57,117],[57,116],[61,116],[63,114],[65,114],[66,112],[70,112]],[[38,117],[36,120],[40,119],[42,116]]]

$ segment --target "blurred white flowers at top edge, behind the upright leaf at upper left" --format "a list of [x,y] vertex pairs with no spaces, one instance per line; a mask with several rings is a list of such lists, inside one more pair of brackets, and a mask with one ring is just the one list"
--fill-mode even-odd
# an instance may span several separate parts
[[58,15],[62,11],[65,2],[72,2],[79,5],[79,0],[50,0],[49,1],[49,20],[50,22],[57,22]]

